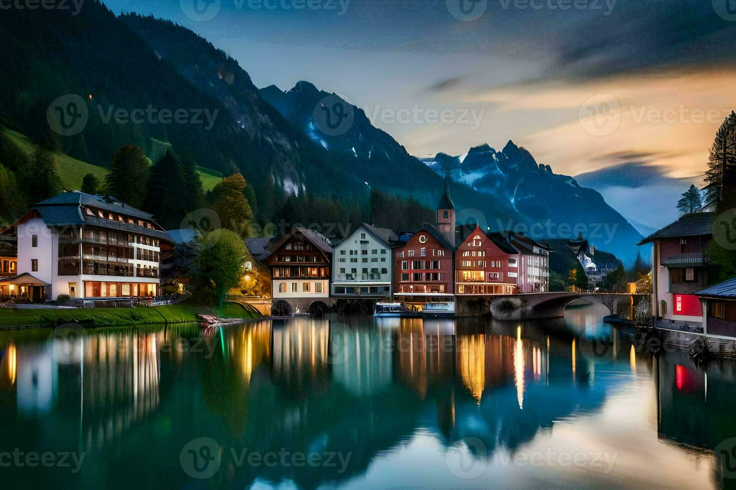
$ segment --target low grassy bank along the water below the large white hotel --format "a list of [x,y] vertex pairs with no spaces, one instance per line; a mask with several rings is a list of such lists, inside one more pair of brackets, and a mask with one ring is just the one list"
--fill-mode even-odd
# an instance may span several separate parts
[[155,323],[199,322],[197,314],[250,320],[254,313],[231,303],[222,308],[167,305],[152,308],[19,309],[0,308],[0,330],[82,323],[91,327],[121,327]]

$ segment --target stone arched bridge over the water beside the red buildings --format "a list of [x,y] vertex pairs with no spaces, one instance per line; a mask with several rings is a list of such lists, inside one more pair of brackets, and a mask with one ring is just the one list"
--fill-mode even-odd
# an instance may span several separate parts
[[523,295],[456,297],[456,316],[470,317],[490,313],[497,320],[542,320],[565,316],[570,303],[596,303],[606,306],[611,314],[632,320],[633,307],[651,295],[605,292],[537,292]]

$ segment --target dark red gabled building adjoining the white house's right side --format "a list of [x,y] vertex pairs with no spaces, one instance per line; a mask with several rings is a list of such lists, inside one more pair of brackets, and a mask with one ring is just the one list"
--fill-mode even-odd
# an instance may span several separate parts
[[403,303],[425,309],[425,303],[453,303],[454,247],[434,226],[404,234],[393,248],[394,295]]

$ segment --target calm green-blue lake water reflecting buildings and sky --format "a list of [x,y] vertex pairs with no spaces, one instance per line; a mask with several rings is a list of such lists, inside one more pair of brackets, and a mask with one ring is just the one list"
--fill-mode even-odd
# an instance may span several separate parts
[[[730,486],[736,364],[655,358],[601,325],[599,308],[539,323],[0,332],[0,481]],[[611,339],[605,353],[590,331]]]

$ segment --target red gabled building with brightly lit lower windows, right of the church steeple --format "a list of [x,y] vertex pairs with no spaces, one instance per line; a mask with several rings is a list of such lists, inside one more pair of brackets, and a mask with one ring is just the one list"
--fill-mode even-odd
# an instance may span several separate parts
[[518,254],[499,234],[480,227],[459,226],[455,252],[456,294],[514,295],[519,292]]

